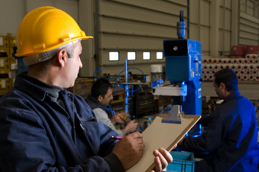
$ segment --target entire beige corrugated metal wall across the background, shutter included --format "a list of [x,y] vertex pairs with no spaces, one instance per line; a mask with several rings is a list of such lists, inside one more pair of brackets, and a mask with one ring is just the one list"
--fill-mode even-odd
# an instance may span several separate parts
[[[81,76],[118,74],[124,70],[128,51],[136,52],[136,67],[149,74],[151,64],[163,64],[156,52],[162,41],[177,38],[179,13],[184,11],[186,38],[202,42],[203,56],[226,57],[232,45],[259,44],[258,0],[9,0],[2,1],[0,33],[15,35],[28,11],[40,6],[54,6],[71,15],[82,30],[94,39],[83,41]],[[8,18],[5,14],[12,11]],[[119,61],[109,61],[109,51],[119,52]],[[143,52],[151,59],[143,60]],[[114,67],[115,65],[115,67]],[[134,71],[135,73],[135,71]],[[136,73],[141,74],[139,71]]]

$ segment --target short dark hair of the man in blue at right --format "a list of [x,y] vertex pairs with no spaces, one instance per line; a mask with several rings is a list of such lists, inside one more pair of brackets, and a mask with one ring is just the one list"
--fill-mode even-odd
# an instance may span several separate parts
[[214,74],[215,84],[219,87],[221,83],[226,85],[227,91],[237,91],[237,75],[232,69],[222,69]]

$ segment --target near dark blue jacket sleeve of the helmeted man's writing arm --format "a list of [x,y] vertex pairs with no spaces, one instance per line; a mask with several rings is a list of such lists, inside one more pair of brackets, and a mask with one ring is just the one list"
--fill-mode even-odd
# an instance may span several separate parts
[[49,136],[40,119],[28,110],[2,109],[0,133],[2,171],[110,171],[101,156],[93,156],[75,166],[55,166]]

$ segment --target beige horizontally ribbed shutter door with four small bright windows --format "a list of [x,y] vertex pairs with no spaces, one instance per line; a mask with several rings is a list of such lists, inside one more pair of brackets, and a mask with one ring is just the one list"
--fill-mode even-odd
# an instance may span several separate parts
[[[164,63],[164,59],[156,59],[156,52],[163,51],[163,40],[177,38],[180,11],[184,11],[188,37],[187,0],[99,1],[99,67],[104,67],[102,72],[113,75],[124,70],[128,51],[136,52],[136,60],[130,61],[129,67],[140,68],[145,74],[149,74],[150,64]],[[118,61],[109,61],[110,51],[119,52]],[[144,51],[150,52],[150,60],[143,60]]]

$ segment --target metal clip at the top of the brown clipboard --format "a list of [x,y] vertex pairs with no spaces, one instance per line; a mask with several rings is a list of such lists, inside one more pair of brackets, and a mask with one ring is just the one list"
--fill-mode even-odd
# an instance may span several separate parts
[[182,124],[182,119],[184,118],[184,112],[180,112],[180,105],[173,105],[169,111],[168,117],[162,119],[162,123],[174,123]]

